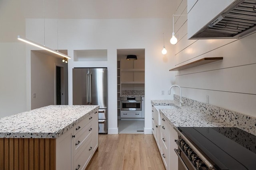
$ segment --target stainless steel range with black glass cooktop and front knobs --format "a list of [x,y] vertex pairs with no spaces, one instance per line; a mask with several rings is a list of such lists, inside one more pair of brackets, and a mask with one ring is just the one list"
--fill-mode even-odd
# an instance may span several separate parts
[[179,127],[179,170],[256,170],[256,136],[234,127]]

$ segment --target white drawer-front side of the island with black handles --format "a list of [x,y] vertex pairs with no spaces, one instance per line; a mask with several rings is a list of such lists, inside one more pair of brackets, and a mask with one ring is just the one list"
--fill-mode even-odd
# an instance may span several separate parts
[[56,139],[56,170],[84,170],[98,148],[98,110]]

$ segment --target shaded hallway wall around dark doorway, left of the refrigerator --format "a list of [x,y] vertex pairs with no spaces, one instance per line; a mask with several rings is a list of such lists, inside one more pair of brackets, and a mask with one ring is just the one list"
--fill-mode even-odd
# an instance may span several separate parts
[[[64,94],[68,100],[68,64],[62,58],[31,51],[31,109],[56,103],[56,66],[64,69]],[[65,90],[66,88],[66,90]]]

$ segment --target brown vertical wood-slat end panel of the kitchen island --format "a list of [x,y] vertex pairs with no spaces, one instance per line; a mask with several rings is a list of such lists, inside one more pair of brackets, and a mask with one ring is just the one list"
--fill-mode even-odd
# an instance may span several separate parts
[[56,139],[0,138],[1,170],[55,170]]

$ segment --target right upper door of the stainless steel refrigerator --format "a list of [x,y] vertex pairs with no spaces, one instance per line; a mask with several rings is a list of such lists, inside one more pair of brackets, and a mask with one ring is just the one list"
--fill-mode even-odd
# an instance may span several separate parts
[[107,75],[107,68],[90,68],[92,99],[91,105],[99,105],[100,109],[107,108]]

